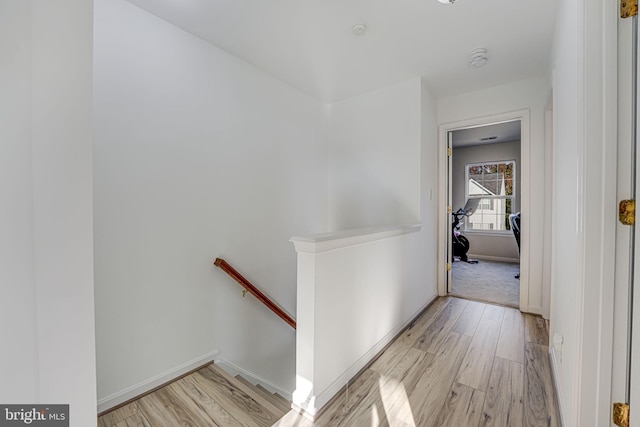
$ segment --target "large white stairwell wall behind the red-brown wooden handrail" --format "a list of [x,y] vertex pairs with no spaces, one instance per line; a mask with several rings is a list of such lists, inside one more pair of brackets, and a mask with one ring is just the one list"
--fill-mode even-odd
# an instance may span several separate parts
[[96,2],[98,396],[214,350],[293,390],[291,235],[324,231],[326,107],[121,0]]

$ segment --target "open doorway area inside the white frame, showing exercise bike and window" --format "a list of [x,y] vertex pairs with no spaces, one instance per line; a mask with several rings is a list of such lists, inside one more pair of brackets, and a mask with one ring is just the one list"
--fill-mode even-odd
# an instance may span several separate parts
[[520,120],[451,131],[451,295],[520,305],[520,141]]

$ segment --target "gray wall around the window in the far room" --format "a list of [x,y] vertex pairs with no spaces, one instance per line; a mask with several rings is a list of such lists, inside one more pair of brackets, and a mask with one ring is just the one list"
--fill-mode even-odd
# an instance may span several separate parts
[[[472,147],[460,147],[453,149],[452,163],[452,206],[455,212],[463,208],[465,199],[465,177],[466,165],[469,163],[491,162],[495,160],[515,160],[516,161],[516,187],[513,212],[520,211],[520,141],[502,142],[497,144],[484,144]],[[481,233],[466,231],[465,237],[469,239],[471,249],[469,253],[473,256],[487,256],[493,258],[503,258],[518,260],[518,244],[509,231],[507,234],[498,235],[496,233]]]

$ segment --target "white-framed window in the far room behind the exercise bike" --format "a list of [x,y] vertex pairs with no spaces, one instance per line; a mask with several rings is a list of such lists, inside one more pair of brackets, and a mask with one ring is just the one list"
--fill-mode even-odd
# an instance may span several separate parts
[[466,166],[466,198],[478,207],[466,219],[465,230],[511,230],[509,215],[515,200],[516,162],[470,163]]

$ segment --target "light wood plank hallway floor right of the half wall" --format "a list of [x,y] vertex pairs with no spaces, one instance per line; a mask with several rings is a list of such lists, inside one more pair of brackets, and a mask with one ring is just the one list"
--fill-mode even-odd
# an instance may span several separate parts
[[559,426],[544,319],[441,298],[311,422],[276,426]]

